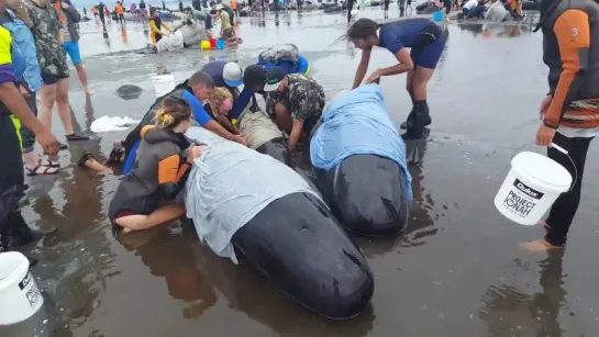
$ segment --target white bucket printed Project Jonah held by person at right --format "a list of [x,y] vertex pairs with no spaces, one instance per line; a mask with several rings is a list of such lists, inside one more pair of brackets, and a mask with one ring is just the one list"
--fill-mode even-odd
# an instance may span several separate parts
[[513,222],[535,225],[570,186],[572,176],[562,165],[523,151],[513,157],[512,168],[495,196],[495,206]]

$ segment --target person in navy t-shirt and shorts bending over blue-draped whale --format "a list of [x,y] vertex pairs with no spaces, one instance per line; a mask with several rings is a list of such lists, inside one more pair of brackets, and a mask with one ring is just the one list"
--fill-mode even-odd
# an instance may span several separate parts
[[424,126],[431,124],[426,85],[443,54],[447,41],[445,32],[428,19],[406,19],[386,24],[359,19],[350,27],[345,37],[362,49],[353,88],[357,88],[366,76],[373,47],[386,48],[396,56],[399,61],[397,65],[375,70],[366,83],[375,82],[381,76],[408,72],[406,89],[412,98],[413,108],[401,127],[407,128],[404,137],[420,138]]

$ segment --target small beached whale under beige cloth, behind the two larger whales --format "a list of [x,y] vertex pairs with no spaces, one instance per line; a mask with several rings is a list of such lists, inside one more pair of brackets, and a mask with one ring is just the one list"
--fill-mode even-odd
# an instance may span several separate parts
[[265,112],[247,109],[237,121],[240,134],[247,136],[249,148],[290,165],[287,138]]

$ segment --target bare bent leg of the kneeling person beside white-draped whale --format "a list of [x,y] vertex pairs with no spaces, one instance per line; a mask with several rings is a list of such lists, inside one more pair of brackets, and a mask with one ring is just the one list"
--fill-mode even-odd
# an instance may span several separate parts
[[158,207],[149,215],[129,215],[114,220],[123,227],[123,233],[133,231],[143,231],[152,228],[164,223],[175,221],[185,215],[185,206],[181,204],[165,204]]

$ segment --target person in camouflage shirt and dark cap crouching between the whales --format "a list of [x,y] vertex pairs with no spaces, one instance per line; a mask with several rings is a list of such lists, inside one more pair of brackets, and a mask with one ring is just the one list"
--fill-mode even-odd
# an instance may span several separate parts
[[289,135],[289,150],[295,150],[302,133],[309,135],[322,114],[324,90],[306,75],[273,68],[266,72],[264,91],[269,93],[266,112]]

